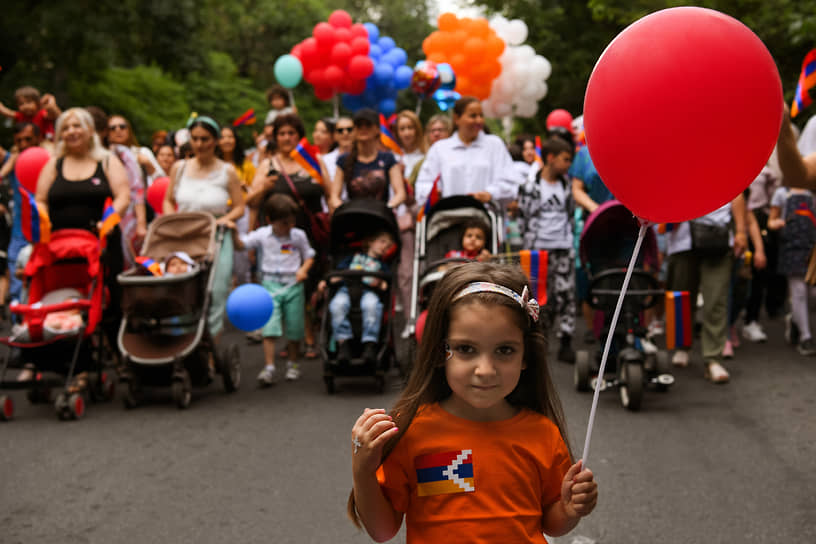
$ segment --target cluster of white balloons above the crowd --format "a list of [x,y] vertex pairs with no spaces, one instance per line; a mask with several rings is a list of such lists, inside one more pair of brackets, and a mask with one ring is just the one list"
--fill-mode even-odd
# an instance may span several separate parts
[[508,21],[496,16],[490,27],[507,43],[499,58],[501,75],[493,81],[490,98],[482,103],[485,116],[533,117],[538,112],[538,101],[547,95],[547,78],[552,73],[550,62],[529,45],[527,25],[521,19]]

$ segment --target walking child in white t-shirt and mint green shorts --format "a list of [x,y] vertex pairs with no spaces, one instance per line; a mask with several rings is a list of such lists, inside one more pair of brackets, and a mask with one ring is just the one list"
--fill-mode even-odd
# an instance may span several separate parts
[[267,386],[277,381],[275,343],[283,336],[284,327],[289,341],[286,379],[300,378],[300,368],[295,360],[304,335],[303,282],[314,263],[315,251],[309,245],[306,232],[295,227],[298,205],[290,196],[273,194],[263,208],[268,222],[266,226],[242,235],[237,233],[234,224],[230,226],[237,249],[255,249],[260,253],[261,284],[275,301],[272,317],[261,331],[265,366],[258,374],[258,382]]

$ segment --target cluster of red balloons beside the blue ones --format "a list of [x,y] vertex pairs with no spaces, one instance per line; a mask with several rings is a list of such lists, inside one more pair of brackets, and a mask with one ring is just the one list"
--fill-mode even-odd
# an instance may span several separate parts
[[340,92],[360,94],[365,91],[366,79],[374,73],[369,49],[366,27],[352,24],[351,15],[336,10],[329,16],[328,23],[315,25],[312,37],[292,48],[292,55],[301,62],[315,96],[330,100]]

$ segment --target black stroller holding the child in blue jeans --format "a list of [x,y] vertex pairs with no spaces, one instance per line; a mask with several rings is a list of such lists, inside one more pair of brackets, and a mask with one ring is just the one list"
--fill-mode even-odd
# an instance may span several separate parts
[[[394,238],[395,244],[385,259],[389,272],[367,272],[363,270],[338,270],[337,265],[345,258],[362,249],[363,240],[374,233],[386,231]],[[396,360],[394,349],[393,301],[396,285],[397,265],[399,261],[399,227],[394,212],[384,203],[377,200],[349,200],[335,210],[331,219],[331,244],[329,245],[328,274],[325,277],[327,289],[321,299],[322,319],[320,326],[320,355],[323,359],[323,381],[329,394],[335,391],[335,378],[338,376],[373,376],[377,389],[385,390],[385,375]],[[386,288],[375,292],[383,305],[382,324],[377,343],[377,357],[374,364],[362,358],[362,312],[360,299],[365,284],[364,277],[375,277],[385,280]],[[338,282],[339,278],[342,281]],[[335,282],[332,282],[335,279]],[[348,362],[339,362],[337,345],[333,337],[329,302],[342,285],[345,285],[351,298],[349,321],[353,338],[351,342],[352,358]]]

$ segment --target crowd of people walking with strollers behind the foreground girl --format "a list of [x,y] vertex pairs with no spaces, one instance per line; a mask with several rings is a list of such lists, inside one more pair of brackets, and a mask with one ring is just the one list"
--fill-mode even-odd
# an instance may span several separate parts
[[[14,165],[21,152],[40,145],[51,152],[52,160],[40,174],[36,202],[52,229],[98,229],[103,203],[112,198],[122,221],[111,234],[117,243],[110,245],[107,256],[109,278],[137,266],[135,257],[149,222],[158,214],[206,211],[234,229],[235,236],[225,238],[218,255],[208,324],[218,338],[226,300],[235,286],[255,281],[267,287],[277,303],[270,320],[275,324],[248,334],[263,341],[262,383],[276,379],[276,355],[286,358],[288,379],[300,374],[301,349],[307,358],[317,356],[314,296],[326,272],[321,255],[328,242],[314,232],[316,218],[360,198],[381,201],[395,214],[402,248],[397,308],[406,318],[412,303],[417,212],[433,191],[442,197],[466,194],[503,214],[507,251],[547,251],[547,311],[559,341],[558,359],[575,359],[579,316],[588,330],[583,341],[596,341],[596,317],[587,300],[588,271],[576,255],[584,221],[614,195],[571,128],[553,127],[540,152],[527,135],[508,146],[489,134],[481,103],[464,97],[451,116],[435,115],[424,126],[410,111],[393,116],[390,129],[402,150],[394,153],[381,142],[378,114],[363,109],[351,117],[320,119],[312,127],[309,136],[319,149],[315,175],[292,157],[307,128],[289,94],[276,87],[267,96],[271,109],[263,131],[253,147],[244,149],[235,128],[205,115],[191,117],[178,130],[157,131],[150,145],[142,146],[125,115],[108,115],[96,106],[62,111],[53,96],[41,96],[31,87],[19,89],[17,109],[0,109],[15,121],[14,141],[0,154],[6,183],[0,205],[7,219],[0,222],[7,261],[0,301],[6,316],[9,301],[24,297],[21,269],[29,254]],[[801,142],[809,141],[814,130],[816,125],[808,125]],[[806,170],[792,158],[813,150],[796,149],[794,154],[784,147],[791,141],[795,149],[796,137],[783,131],[778,154],[731,203],[694,221],[654,226],[662,259],[653,272],[666,289],[688,291],[694,308],[701,311],[702,359],[706,376],[715,383],[728,381],[724,360],[735,356],[742,341],[767,339],[760,324],[763,305],[768,318],[785,316],[786,339],[799,353],[816,354],[805,282],[816,241],[814,200],[802,174]],[[153,182],[165,177],[169,184],[161,209],[153,209],[145,195]],[[806,181],[788,188],[783,178]],[[277,198],[280,195],[286,198]],[[463,239],[461,255],[467,254],[464,245],[469,243]],[[478,260],[485,260],[483,247],[484,241]],[[108,312],[115,316],[116,282],[109,279],[108,284],[114,295]],[[342,314],[338,308],[345,302],[334,300],[330,307]],[[661,314],[659,307],[646,313],[651,341],[663,331]],[[343,315],[334,318],[342,345]],[[407,337],[410,328],[402,332]],[[282,335],[290,341],[289,349],[276,354],[274,340]],[[672,362],[686,366],[689,359],[689,350],[682,348]]]

